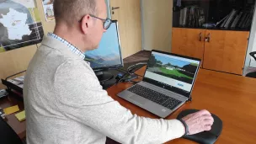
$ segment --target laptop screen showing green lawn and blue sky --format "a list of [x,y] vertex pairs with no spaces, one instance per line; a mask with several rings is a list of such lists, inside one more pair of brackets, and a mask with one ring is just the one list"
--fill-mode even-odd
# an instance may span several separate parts
[[200,60],[152,51],[143,81],[189,97]]

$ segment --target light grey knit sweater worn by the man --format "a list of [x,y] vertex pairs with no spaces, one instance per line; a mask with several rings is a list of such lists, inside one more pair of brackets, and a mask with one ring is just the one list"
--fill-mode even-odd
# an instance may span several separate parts
[[24,82],[28,144],[163,143],[184,134],[179,120],[132,115],[109,97],[87,62],[46,36]]

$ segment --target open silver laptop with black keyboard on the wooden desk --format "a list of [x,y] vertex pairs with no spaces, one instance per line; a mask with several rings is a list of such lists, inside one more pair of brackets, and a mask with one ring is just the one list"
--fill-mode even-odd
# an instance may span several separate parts
[[118,96],[166,118],[191,97],[200,59],[152,51],[143,80]]

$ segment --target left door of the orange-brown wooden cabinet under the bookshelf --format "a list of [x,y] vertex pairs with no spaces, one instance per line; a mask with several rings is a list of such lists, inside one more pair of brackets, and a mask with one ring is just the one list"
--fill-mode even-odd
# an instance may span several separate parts
[[205,29],[173,28],[173,53],[203,60],[204,46]]

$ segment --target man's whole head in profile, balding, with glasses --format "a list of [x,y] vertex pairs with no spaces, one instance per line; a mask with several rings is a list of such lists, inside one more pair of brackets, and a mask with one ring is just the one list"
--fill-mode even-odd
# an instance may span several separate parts
[[107,18],[104,0],[54,0],[53,5],[56,17],[54,34],[81,51],[98,47],[106,30],[104,20],[101,20]]

